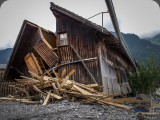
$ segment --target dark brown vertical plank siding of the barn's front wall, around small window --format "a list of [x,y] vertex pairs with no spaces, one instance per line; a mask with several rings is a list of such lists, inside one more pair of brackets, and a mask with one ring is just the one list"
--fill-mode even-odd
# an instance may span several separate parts
[[[96,31],[93,31],[85,24],[75,22],[74,20],[65,16],[57,17],[56,19],[57,33],[66,31],[69,43],[68,46],[58,47],[58,56],[60,57],[60,62],[65,63],[79,60],[76,54],[73,52],[72,48],[70,47],[71,44],[74,46],[82,59],[97,57],[97,60],[88,61],[85,64],[90,70],[90,72],[93,74],[96,81],[99,84],[102,84],[100,80],[100,68],[98,67],[98,39]],[[58,40],[59,39],[57,39],[57,43],[59,43]],[[61,67],[59,69],[59,73],[61,73],[63,68],[67,68],[68,72],[71,69],[75,69],[76,73],[74,74],[74,76],[72,76],[72,79],[78,82],[94,83],[81,62]]]

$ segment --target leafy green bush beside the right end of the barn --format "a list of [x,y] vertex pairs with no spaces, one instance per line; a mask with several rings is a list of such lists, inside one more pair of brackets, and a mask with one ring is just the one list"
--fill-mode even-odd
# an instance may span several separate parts
[[147,63],[138,64],[137,72],[129,74],[129,83],[133,93],[149,94],[160,87],[160,66],[149,58]]

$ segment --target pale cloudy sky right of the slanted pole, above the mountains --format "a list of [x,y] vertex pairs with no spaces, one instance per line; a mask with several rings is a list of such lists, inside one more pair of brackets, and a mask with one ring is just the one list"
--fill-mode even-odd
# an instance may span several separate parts
[[121,31],[135,33],[140,37],[144,34],[159,31],[160,9],[152,0],[113,0]]

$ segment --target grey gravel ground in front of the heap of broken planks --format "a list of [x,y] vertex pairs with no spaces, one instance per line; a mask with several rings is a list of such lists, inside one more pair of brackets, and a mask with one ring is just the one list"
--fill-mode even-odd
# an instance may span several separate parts
[[133,110],[63,100],[46,106],[0,102],[0,120],[136,120]]

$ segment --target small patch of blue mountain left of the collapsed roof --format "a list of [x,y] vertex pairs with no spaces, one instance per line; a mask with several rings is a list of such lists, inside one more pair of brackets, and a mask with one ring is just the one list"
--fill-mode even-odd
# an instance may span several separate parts
[[7,48],[0,50],[0,64],[7,64],[9,57],[11,55],[12,48]]

